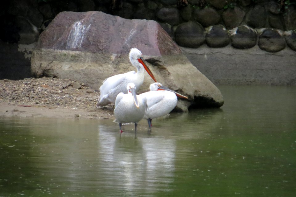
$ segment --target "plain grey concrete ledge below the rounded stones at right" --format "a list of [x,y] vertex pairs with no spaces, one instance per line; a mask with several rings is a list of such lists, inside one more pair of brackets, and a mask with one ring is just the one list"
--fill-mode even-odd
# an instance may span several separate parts
[[191,63],[216,85],[295,85],[296,52],[286,47],[269,53],[249,49],[180,47]]

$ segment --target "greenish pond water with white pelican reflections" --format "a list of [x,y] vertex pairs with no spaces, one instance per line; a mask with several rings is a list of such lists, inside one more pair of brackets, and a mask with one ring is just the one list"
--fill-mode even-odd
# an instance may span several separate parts
[[218,86],[220,109],[113,120],[2,118],[1,196],[295,196],[295,86]]

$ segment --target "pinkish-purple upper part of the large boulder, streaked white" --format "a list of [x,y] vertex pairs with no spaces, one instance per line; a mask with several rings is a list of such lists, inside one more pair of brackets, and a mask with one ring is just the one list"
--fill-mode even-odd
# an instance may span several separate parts
[[42,32],[39,46],[70,51],[146,55],[180,54],[179,47],[153,20],[127,20],[103,12],[61,12]]

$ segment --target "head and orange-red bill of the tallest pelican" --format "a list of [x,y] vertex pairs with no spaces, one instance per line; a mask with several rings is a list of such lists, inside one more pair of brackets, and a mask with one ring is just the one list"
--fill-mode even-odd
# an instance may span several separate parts
[[139,51],[137,48],[132,48],[130,50],[129,58],[130,58],[130,62],[132,63],[132,65],[134,67],[136,67],[137,69],[139,69],[139,67],[144,67],[145,70],[150,75],[150,77],[155,82],[157,82],[156,79],[155,79],[155,77],[154,77],[154,75],[152,74],[152,72],[150,71],[150,69],[148,68],[148,66],[145,64],[144,59],[142,57],[142,52],[141,51]]

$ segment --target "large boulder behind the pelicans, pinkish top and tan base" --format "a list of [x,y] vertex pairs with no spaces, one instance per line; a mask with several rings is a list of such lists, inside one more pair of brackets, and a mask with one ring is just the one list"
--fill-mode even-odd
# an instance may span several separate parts
[[[128,59],[132,47],[142,51],[160,83],[188,96],[188,100],[179,100],[176,109],[186,111],[199,101],[203,107],[223,105],[219,89],[151,20],[127,20],[96,11],[61,12],[40,35],[31,72],[37,77],[79,80],[98,89],[107,77],[134,70]],[[148,91],[152,82],[146,75],[138,93]]]

